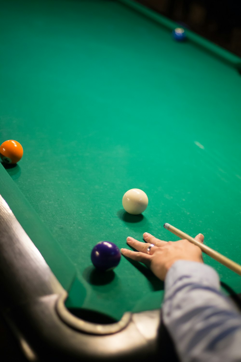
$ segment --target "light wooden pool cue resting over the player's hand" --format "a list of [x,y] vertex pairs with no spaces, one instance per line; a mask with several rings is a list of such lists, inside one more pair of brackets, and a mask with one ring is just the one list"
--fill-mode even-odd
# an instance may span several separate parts
[[211,249],[207,245],[201,243],[200,241],[195,240],[193,237],[189,236],[185,232],[177,229],[175,226],[172,226],[168,223],[165,223],[164,228],[168,231],[171,231],[176,236],[180,237],[181,239],[187,239],[191,243],[197,245],[205,254],[211,256],[211,258],[215,259],[219,263],[227,266],[227,268],[233,270],[235,273],[241,275],[241,265],[232,261],[231,259],[225,257],[223,254],[218,253],[214,249]]

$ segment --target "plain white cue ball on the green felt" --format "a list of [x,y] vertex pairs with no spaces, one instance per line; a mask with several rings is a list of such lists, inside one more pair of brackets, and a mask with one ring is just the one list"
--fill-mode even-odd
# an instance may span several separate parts
[[138,215],[146,210],[148,197],[146,193],[140,189],[130,189],[126,191],[123,196],[122,205],[129,214]]

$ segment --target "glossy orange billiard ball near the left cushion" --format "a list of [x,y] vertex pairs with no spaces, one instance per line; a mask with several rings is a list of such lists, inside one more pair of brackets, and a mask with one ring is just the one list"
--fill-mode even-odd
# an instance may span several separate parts
[[17,163],[21,160],[23,148],[21,144],[13,139],[5,141],[0,146],[0,157],[5,163]]

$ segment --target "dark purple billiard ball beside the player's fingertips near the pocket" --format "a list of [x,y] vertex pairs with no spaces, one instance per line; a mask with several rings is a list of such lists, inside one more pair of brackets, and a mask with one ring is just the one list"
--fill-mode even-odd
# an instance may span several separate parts
[[96,269],[108,271],[114,269],[120,262],[120,249],[111,241],[100,241],[91,252],[91,261]]

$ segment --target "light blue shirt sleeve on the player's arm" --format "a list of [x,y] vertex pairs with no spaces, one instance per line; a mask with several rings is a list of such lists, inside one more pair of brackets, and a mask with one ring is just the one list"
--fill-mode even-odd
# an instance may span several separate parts
[[163,321],[182,362],[240,362],[241,316],[210,266],[176,261],[165,279]]

